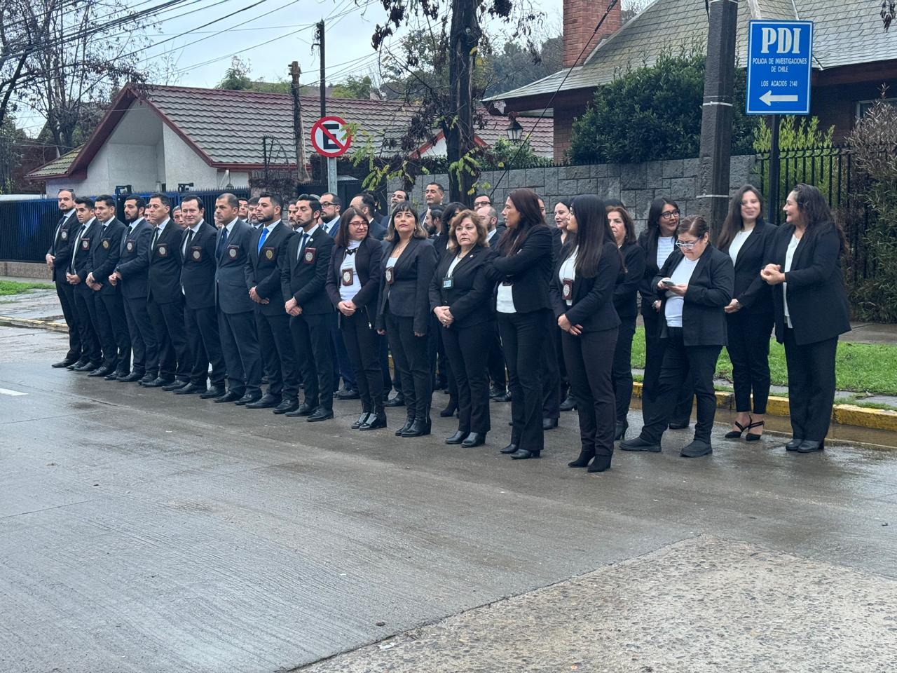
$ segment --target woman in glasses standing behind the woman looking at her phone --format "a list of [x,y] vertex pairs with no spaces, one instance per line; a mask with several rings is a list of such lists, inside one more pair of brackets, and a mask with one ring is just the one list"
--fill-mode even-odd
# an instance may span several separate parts
[[[641,415],[647,421],[651,405],[660,389],[660,367],[664,362],[665,341],[660,338],[661,309],[654,277],[675,251],[676,229],[679,226],[679,206],[675,201],[657,197],[648,209],[648,226],[639,235],[639,245],[645,250],[645,272],[639,284],[641,319],[645,326],[645,372],[641,388]],[[694,391],[686,381],[676,399],[670,428],[687,428],[692,415]]]

